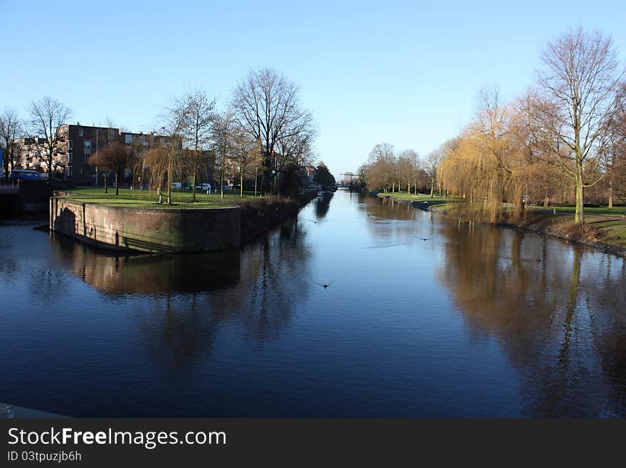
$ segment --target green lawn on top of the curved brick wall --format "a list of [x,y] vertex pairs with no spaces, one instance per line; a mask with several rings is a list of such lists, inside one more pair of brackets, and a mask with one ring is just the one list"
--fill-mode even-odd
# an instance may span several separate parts
[[81,203],[108,204],[115,207],[151,208],[151,209],[203,209],[203,208],[227,208],[235,207],[238,202],[247,199],[255,199],[254,194],[246,194],[243,197],[236,194],[206,194],[196,193],[196,203],[193,203],[191,192],[171,192],[172,204],[158,204],[157,192],[149,190],[120,189],[120,194],[115,194],[115,188],[109,188],[105,194],[103,188],[73,189],[68,191],[65,198]]

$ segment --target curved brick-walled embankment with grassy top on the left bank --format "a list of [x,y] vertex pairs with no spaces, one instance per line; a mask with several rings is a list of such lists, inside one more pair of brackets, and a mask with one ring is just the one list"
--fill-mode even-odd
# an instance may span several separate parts
[[295,216],[314,194],[159,205],[145,197],[65,193],[50,199],[49,229],[129,253],[226,251]]

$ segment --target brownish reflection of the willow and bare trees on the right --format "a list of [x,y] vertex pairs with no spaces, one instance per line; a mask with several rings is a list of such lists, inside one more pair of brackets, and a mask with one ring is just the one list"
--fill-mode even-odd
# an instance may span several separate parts
[[593,268],[583,247],[521,231],[449,222],[443,233],[454,242],[439,279],[472,333],[497,338],[521,370],[524,413],[624,414],[624,262],[606,255]]

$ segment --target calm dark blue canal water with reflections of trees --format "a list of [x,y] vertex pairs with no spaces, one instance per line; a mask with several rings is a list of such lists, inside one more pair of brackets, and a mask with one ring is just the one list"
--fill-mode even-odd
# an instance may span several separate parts
[[626,416],[626,264],[601,251],[341,190],[229,253],[116,257],[37,224],[0,224],[0,402]]

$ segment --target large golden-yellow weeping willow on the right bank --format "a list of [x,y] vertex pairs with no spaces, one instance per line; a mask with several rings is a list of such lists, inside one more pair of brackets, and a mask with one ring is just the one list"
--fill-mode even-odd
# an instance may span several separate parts
[[474,120],[445,149],[440,184],[462,199],[470,217],[492,223],[523,217],[528,145],[519,122],[496,89],[481,90]]

